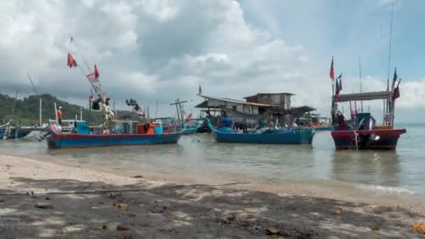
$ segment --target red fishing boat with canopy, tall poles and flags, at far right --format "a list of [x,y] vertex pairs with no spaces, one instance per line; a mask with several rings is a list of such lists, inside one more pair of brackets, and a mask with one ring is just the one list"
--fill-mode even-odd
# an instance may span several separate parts
[[[391,28],[393,21],[393,9],[391,10]],[[388,66],[391,60],[391,31],[389,38],[389,59]],[[382,92],[365,92],[362,93],[361,88],[361,64],[359,57],[359,78],[360,78],[360,92],[358,94],[340,94],[343,89],[341,82],[342,73],[336,79],[335,95],[332,97],[332,119],[336,124],[335,130],[331,135],[337,149],[355,148],[356,150],[395,150],[398,143],[398,138],[405,129],[394,129],[394,108],[396,99],[400,96],[399,86],[401,79],[398,80],[397,68],[394,70],[394,78],[392,80],[391,88],[389,87],[389,67],[387,78],[387,90]],[[331,61],[330,77],[334,80],[333,57]],[[339,80],[339,82],[338,82]],[[332,84],[333,90],[333,84]],[[376,120],[370,113],[363,112],[363,101],[382,100],[384,110],[382,126],[376,126]],[[352,102],[354,101],[354,110],[352,110]],[[356,101],[361,103],[361,113],[357,113]],[[344,119],[343,113],[338,110],[338,103],[350,102],[350,111],[352,112],[352,129],[348,129],[347,122]]]

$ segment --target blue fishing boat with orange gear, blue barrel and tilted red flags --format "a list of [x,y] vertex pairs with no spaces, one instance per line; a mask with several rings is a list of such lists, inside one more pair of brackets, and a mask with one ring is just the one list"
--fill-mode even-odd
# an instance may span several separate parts
[[[71,53],[68,53],[68,66],[71,68],[78,66]],[[127,100],[126,104],[133,107],[133,112],[137,114],[138,119],[118,119],[110,108],[110,98],[106,96],[106,93],[100,92],[99,71],[96,64],[94,72],[85,77],[92,85],[95,95],[98,96],[91,94],[89,102],[92,110],[100,110],[103,115],[104,121],[101,129],[95,133],[87,122],[75,120],[71,132],[64,132],[60,124],[51,123],[47,128],[47,133],[39,137],[39,140],[47,139],[49,148],[154,145],[178,142],[185,128],[178,132],[171,132],[169,129],[164,132],[162,122],[147,123],[149,121],[145,118],[145,110],[142,110],[137,101],[133,99]]]

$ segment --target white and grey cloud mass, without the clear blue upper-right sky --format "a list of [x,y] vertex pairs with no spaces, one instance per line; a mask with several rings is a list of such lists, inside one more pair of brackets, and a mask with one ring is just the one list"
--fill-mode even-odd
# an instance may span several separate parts
[[[193,99],[201,84],[206,94],[234,98],[293,92],[294,105],[329,110],[330,62],[317,62],[301,43],[276,38],[283,23],[273,17],[268,22],[275,29],[248,24],[237,1],[18,2],[0,3],[3,92],[31,93],[28,71],[39,92],[85,101],[84,76],[66,68],[70,50],[83,68],[84,61],[98,64],[102,89],[115,101]],[[345,92],[359,89],[355,76],[343,81]],[[379,78],[363,79],[363,90],[385,86]],[[398,105],[425,107],[423,88],[424,80],[402,82]]]

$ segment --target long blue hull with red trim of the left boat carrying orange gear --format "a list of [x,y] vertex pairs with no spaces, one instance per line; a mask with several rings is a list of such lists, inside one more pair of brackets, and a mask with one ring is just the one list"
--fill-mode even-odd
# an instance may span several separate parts
[[177,143],[181,132],[162,134],[78,134],[57,133],[47,139],[50,149],[70,147],[106,147],[115,145],[157,145]]

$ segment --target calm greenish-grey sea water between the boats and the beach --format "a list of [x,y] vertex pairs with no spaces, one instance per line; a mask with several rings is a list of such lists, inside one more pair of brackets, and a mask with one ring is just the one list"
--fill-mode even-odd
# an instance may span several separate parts
[[211,135],[182,136],[175,145],[48,150],[33,140],[0,140],[0,154],[66,163],[251,181],[322,180],[375,191],[425,195],[425,125],[407,124],[396,151],[336,151],[330,131],[312,146],[215,143]]

